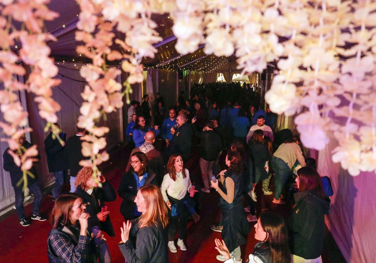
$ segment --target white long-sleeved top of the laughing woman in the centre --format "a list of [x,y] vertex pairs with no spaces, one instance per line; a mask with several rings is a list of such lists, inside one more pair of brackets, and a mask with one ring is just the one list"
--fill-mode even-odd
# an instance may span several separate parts
[[191,190],[192,183],[188,169],[185,169],[185,174],[186,177],[183,178],[182,172],[176,173],[176,181],[171,179],[170,174],[165,174],[161,185],[161,192],[165,202],[168,200],[166,190],[169,196],[177,200],[182,199]]

